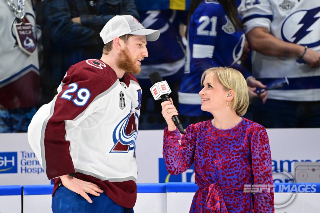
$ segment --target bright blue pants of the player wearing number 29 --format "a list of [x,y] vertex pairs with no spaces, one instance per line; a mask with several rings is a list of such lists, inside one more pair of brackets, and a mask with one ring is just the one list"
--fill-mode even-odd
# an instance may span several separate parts
[[85,200],[80,194],[60,186],[52,197],[53,213],[134,213],[113,202],[104,192],[100,196],[89,194],[92,203]]

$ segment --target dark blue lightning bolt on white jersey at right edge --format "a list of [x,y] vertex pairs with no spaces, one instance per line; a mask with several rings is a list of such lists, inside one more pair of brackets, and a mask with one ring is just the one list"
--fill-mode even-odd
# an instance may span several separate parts
[[320,16],[316,17],[316,14],[318,14],[320,11],[320,7],[311,9],[307,11],[307,13],[304,15],[304,17],[301,19],[299,24],[302,24],[300,29],[292,36],[292,38],[295,38],[293,43],[298,43],[301,39],[303,39],[305,36],[307,36],[312,30],[308,30],[311,25],[313,25]]

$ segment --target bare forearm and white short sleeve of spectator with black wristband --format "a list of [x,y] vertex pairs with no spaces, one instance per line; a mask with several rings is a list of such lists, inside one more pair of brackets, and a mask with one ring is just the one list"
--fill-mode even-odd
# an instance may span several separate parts
[[[292,57],[303,59],[310,67],[320,66],[320,53],[305,47],[284,42],[270,34],[273,6],[269,0],[256,2],[243,1],[238,10],[243,18],[244,31],[250,47],[261,54],[273,57]],[[303,56],[303,57],[302,57]]]

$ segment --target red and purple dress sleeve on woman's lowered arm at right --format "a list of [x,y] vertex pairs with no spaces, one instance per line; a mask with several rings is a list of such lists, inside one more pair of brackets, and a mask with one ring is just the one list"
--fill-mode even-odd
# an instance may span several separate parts
[[[253,184],[270,188],[269,185],[273,185],[271,152],[268,135],[263,126],[258,126],[252,134],[251,155]],[[274,212],[274,194],[272,190],[271,192],[262,190],[262,192],[254,194],[254,212]]]

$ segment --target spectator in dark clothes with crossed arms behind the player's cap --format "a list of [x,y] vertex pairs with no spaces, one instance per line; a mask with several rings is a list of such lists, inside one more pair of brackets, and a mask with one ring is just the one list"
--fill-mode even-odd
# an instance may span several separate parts
[[57,87],[71,65],[100,57],[104,44],[99,32],[116,15],[132,15],[139,20],[134,0],[44,1],[43,103],[48,103],[57,94]]

